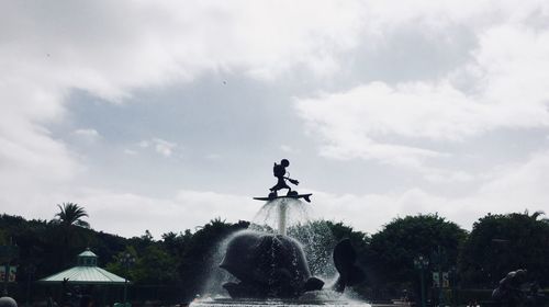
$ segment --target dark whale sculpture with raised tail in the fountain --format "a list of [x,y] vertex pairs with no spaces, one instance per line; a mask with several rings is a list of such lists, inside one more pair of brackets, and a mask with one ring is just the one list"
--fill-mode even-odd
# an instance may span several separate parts
[[[355,265],[356,254],[344,240],[334,249],[339,278],[334,289],[360,282],[362,271]],[[322,289],[324,282],[311,276],[301,245],[287,236],[243,231],[227,246],[220,265],[238,278],[223,285],[233,298],[295,298]]]

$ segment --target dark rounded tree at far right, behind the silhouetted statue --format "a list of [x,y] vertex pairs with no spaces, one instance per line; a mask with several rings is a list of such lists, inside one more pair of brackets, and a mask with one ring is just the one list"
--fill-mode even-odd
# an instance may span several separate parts
[[475,221],[460,257],[463,283],[492,287],[517,269],[527,269],[531,280],[549,283],[549,223],[539,219],[542,214],[488,214]]

